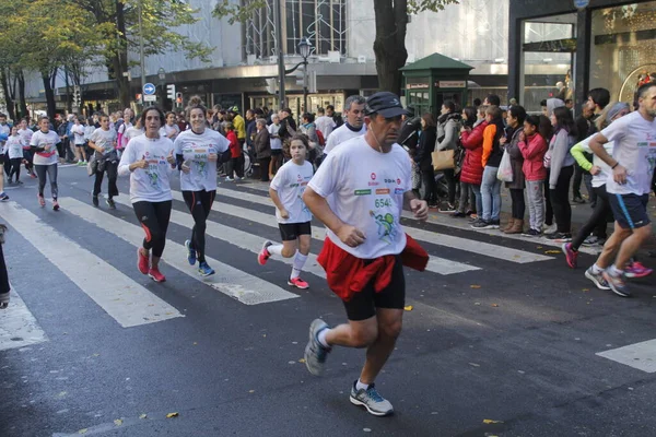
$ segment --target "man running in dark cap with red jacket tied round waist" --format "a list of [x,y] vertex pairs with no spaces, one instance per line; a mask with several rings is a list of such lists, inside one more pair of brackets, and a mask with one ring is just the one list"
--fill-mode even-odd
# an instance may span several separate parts
[[305,364],[313,375],[321,375],[332,346],[366,347],[350,401],[384,416],[394,409],[374,382],[401,332],[403,263],[423,270],[429,261],[425,250],[403,232],[401,211],[405,204],[425,221],[429,205],[414,198],[411,162],[397,144],[401,116],[407,114],[399,97],[376,93],[364,110],[366,133],[330,152],[303,194],[312,213],[328,227],[318,261],[349,318],[335,328],[321,319],[312,322]]

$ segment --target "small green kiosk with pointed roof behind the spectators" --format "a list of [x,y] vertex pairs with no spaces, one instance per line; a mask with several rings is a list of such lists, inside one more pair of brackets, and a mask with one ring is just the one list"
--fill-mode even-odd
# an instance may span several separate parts
[[414,114],[432,113],[440,116],[442,103],[453,101],[460,107],[467,103],[467,80],[473,67],[440,54],[409,63],[403,72],[406,105]]

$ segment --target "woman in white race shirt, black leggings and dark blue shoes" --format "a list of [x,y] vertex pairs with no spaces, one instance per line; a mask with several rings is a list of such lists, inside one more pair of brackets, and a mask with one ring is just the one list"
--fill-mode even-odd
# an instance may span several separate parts
[[[185,241],[187,261],[202,276],[214,274],[206,261],[206,221],[216,197],[216,163],[231,158],[230,141],[207,127],[207,108],[200,97],[194,96],[187,107],[187,120],[191,129],[177,135],[175,155],[180,169],[180,189],[187,208],[194,217],[191,239]],[[173,113],[169,113],[173,115]]]

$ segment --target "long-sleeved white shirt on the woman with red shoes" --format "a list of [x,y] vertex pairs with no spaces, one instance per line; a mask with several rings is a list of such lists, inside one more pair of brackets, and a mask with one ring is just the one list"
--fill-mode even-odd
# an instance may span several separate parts
[[[173,141],[163,137],[151,140],[145,135],[139,135],[128,143],[118,164],[118,174],[130,175],[132,203],[173,200],[169,181],[173,167],[166,161],[172,152]],[[141,160],[148,161],[148,167],[130,172],[130,164]]]

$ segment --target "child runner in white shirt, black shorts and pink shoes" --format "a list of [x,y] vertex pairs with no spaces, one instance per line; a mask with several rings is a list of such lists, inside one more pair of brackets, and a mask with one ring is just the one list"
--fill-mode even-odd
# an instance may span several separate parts
[[265,265],[272,255],[294,257],[294,267],[288,284],[301,290],[309,287],[307,282],[301,279],[312,240],[312,213],[303,202],[303,192],[314,174],[312,164],[305,161],[308,147],[308,139],[302,133],[295,134],[284,144],[285,152],[292,156],[292,161],[280,167],[269,188],[269,196],[276,203],[276,218],[282,245],[265,241],[257,256],[260,265]]

